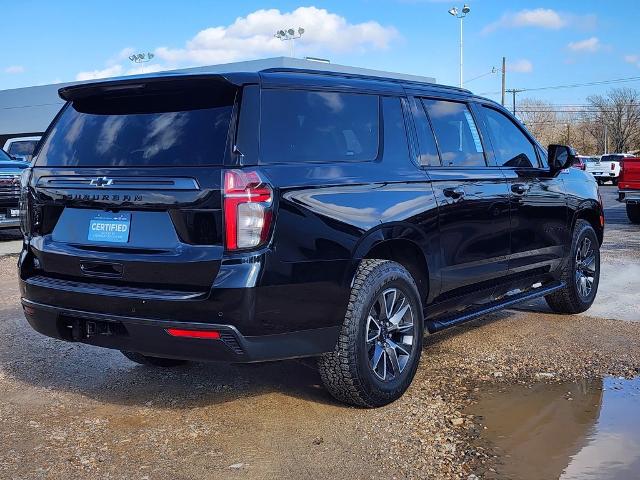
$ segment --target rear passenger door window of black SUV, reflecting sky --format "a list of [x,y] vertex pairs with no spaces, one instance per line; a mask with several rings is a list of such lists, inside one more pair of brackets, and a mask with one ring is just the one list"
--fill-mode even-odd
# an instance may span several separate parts
[[486,166],[480,133],[469,107],[445,100],[422,100],[445,167]]

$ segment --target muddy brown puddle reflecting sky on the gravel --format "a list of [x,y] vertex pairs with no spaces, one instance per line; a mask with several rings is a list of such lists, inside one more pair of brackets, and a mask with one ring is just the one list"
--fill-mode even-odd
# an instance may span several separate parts
[[481,394],[471,413],[506,478],[640,478],[640,377],[509,386]]

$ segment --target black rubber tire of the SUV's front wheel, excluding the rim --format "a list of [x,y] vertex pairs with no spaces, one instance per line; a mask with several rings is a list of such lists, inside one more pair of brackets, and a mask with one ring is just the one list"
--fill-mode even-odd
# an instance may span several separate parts
[[[591,293],[587,297],[582,297],[576,285],[576,253],[578,246],[581,245],[585,237],[591,240],[594,248],[596,273],[594,275]],[[600,242],[598,241],[595,230],[586,220],[578,220],[573,228],[571,250],[563,262],[560,279],[564,282],[564,287],[545,296],[545,300],[551,310],[563,314],[576,314],[588,310],[593,304],[598,292],[598,283],[600,280]]]

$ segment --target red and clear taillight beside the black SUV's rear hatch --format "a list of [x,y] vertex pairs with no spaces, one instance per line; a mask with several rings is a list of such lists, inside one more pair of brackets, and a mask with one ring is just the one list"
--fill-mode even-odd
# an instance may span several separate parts
[[271,227],[273,190],[255,170],[224,173],[224,227],[227,250],[264,244]]

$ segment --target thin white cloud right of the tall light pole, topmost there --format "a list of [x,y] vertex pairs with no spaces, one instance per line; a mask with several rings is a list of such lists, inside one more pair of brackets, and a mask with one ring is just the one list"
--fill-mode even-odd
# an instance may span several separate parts
[[558,12],[551,8],[525,9],[518,12],[506,12],[498,20],[490,23],[483,33],[493,32],[500,28],[534,27],[547,30],[559,30],[568,26],[589,29],[596,23],[594,15],[574,15]]

